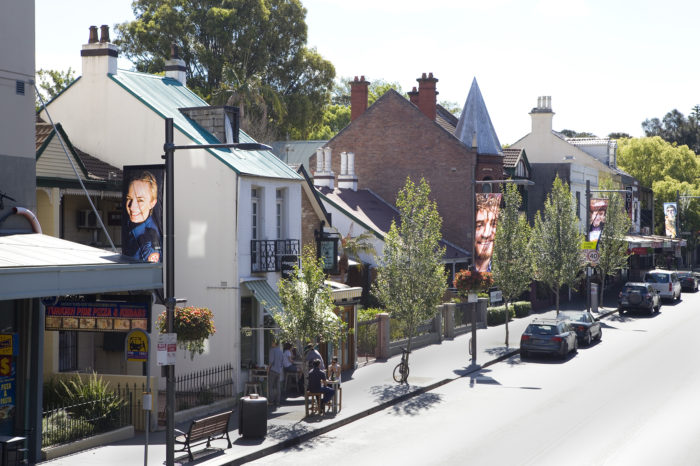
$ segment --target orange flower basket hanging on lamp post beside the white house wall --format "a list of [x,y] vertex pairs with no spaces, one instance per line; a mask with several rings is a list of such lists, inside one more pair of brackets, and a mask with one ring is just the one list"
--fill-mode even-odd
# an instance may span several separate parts
[[[156,320],[160,333],[168,333],[167,311],[163,311]],[[173,332],[177,334],[180,349],[190,352],[190,358],[204,352],[204,340],[216,333],[214,314],[206,307],[176,307],[173,318]]]

